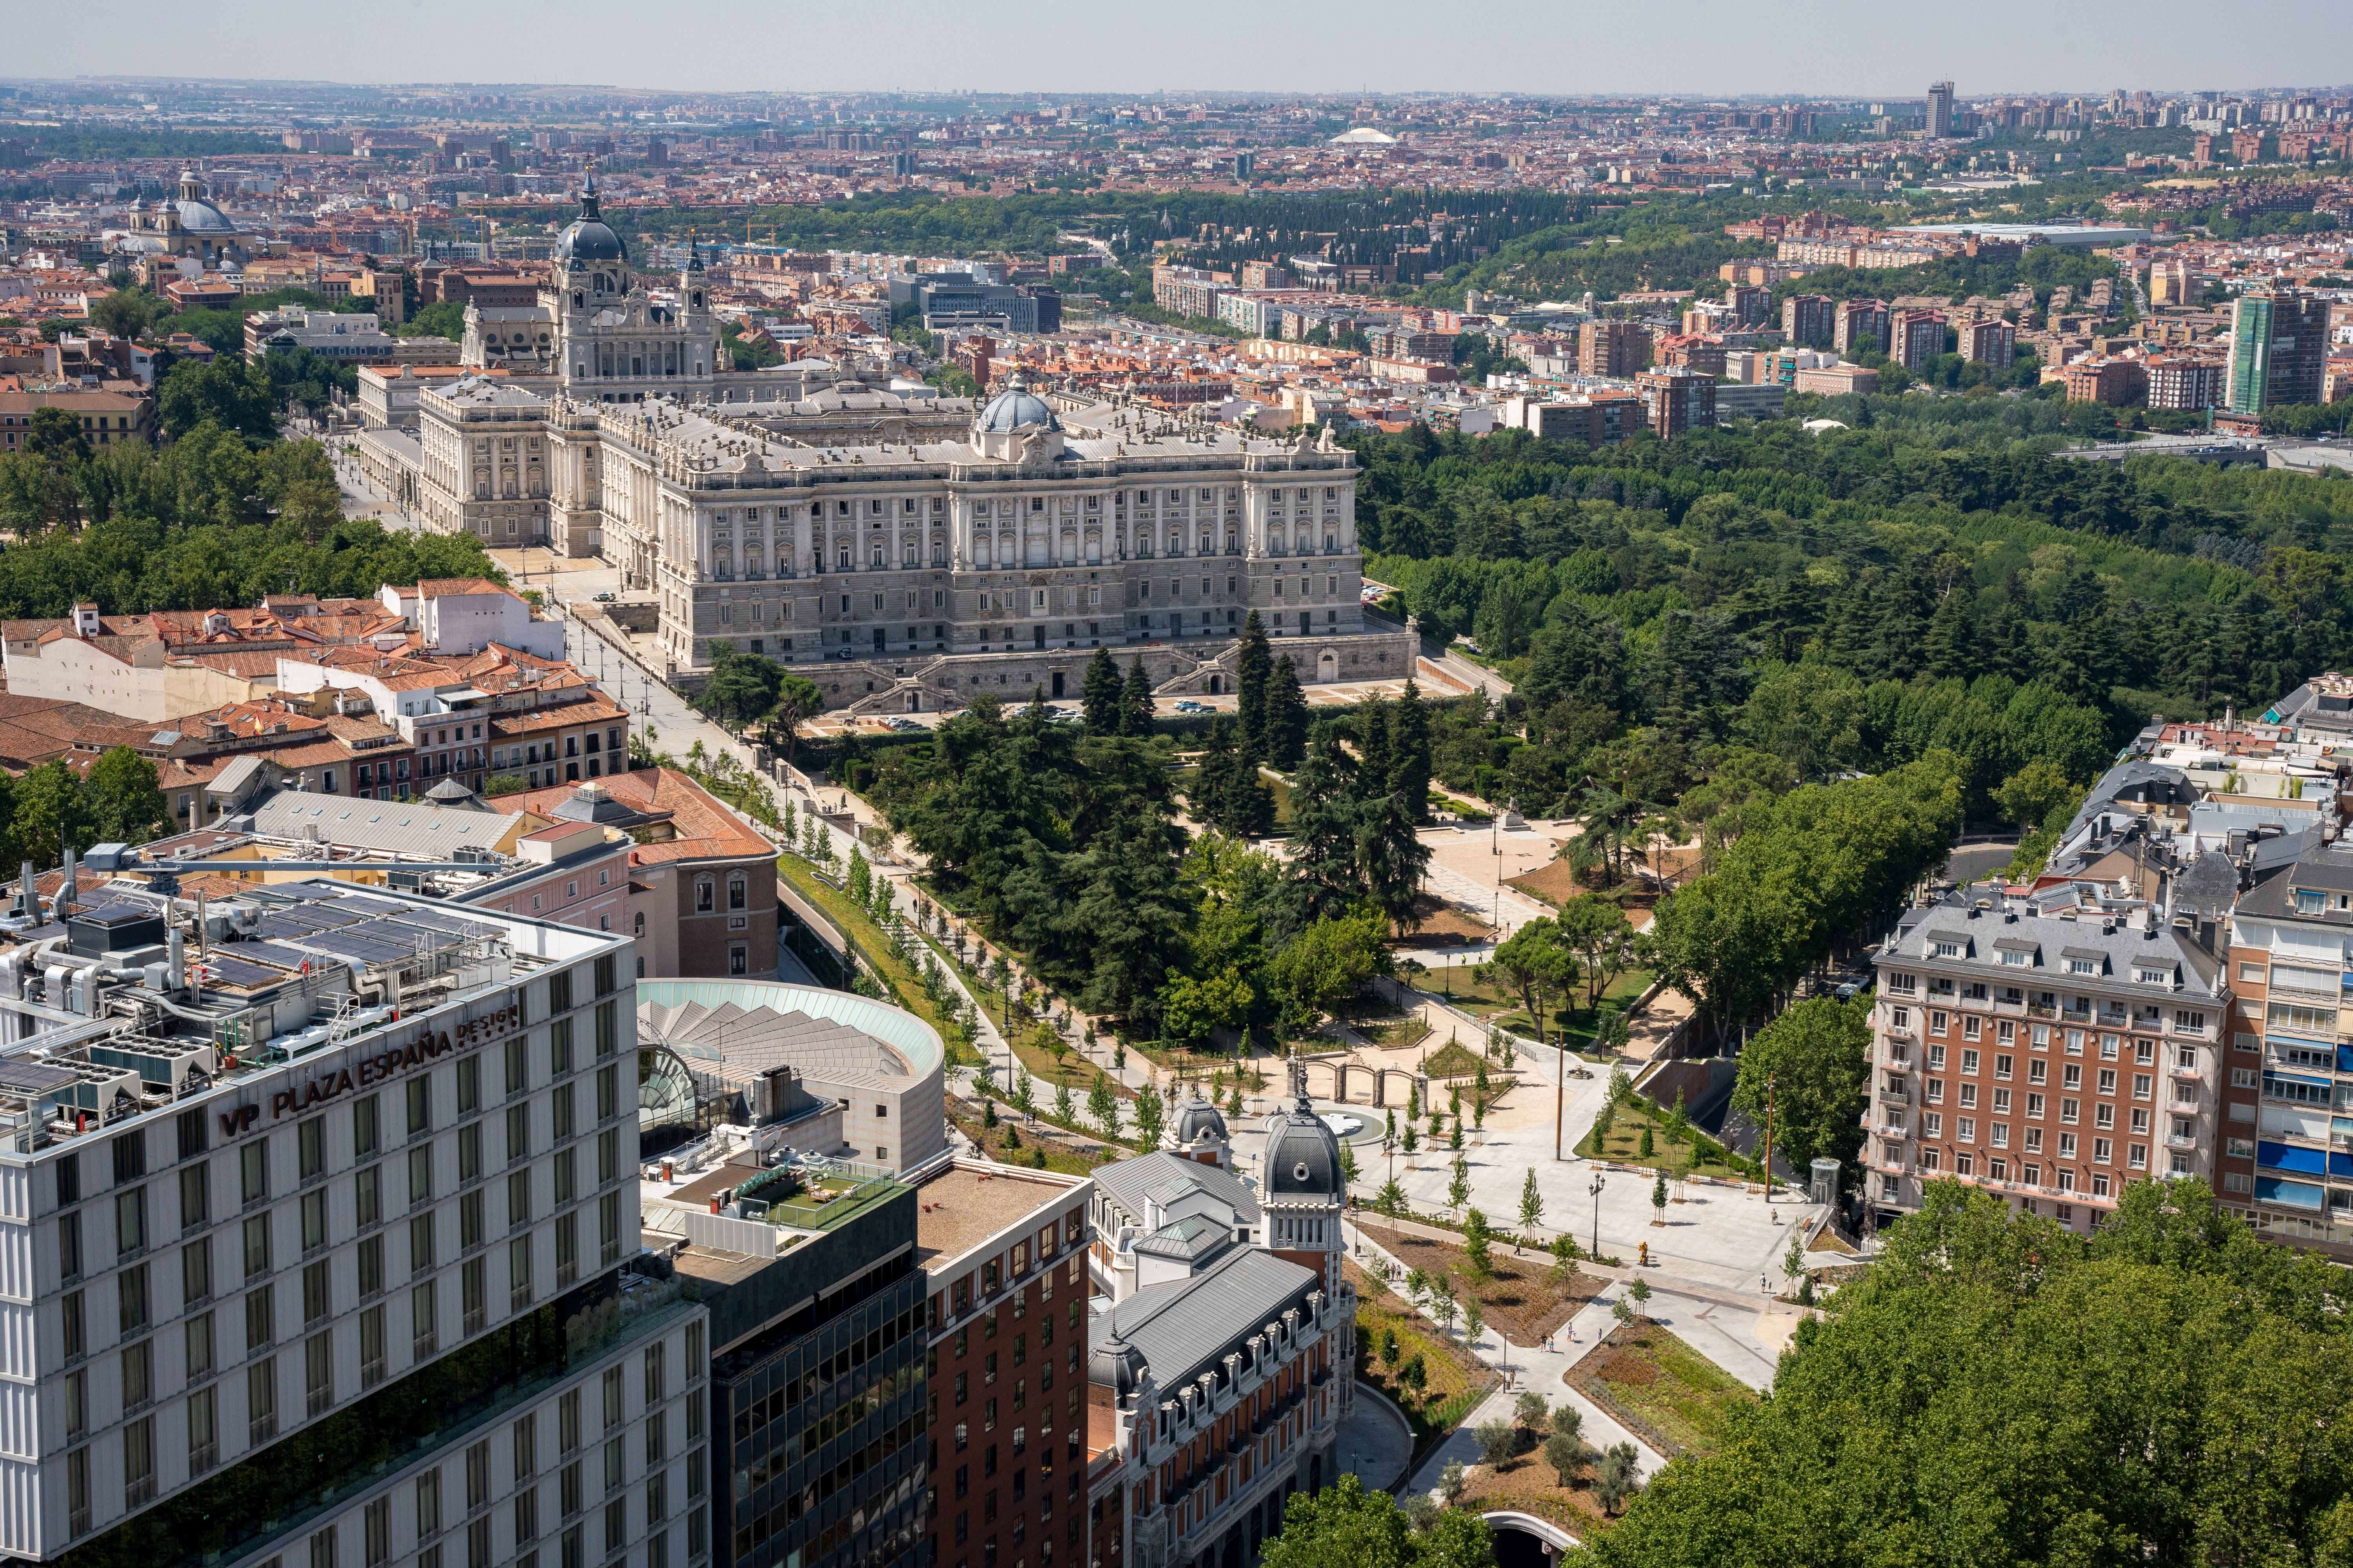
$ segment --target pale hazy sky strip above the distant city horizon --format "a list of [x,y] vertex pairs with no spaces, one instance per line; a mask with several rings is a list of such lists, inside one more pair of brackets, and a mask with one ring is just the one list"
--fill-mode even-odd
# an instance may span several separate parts
[[0,75],[911,92],[1977,92],[2353,80],[2346,0],[80,0]]

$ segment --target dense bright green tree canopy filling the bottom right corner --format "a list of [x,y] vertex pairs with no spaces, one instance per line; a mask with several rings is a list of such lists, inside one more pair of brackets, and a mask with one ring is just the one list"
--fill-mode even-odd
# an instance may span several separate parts
[[2094,1237],[1958,1182],[1595,1568],[2353,1561],[2348,1276],[2191,1180]]

